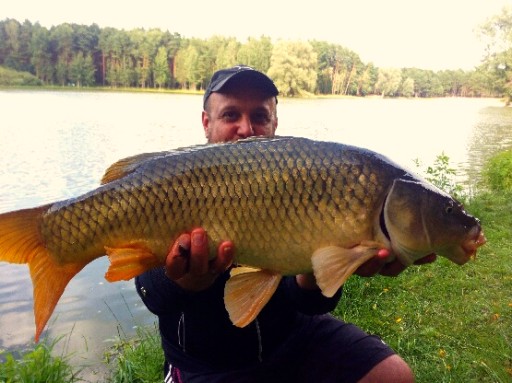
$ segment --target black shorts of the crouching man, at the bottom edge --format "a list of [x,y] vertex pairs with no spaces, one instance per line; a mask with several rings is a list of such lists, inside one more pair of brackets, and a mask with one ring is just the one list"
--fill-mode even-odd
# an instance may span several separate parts
[[379,337],[368,335],[331,315],[303,316],[295,327],[294,335],[257,365],[229,372],[196,373],[173,369],[177,378],[174,381],[352,383],[395,354]]

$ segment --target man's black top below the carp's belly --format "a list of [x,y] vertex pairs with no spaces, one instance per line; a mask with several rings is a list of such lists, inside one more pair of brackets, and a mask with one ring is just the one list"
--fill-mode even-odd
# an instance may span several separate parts
[[285,276],[258,318],[244,328],[234,326],[224,307],[229,271],[207,290],[188,292],[169,280],[163,268],[135,279],[148,309],[158,316],[167,363],[185,371],[243,367],[270,355],[290,335],[298,313],[332,311],[341,289],[332,298],[319,290],[301,289],[294,276]]

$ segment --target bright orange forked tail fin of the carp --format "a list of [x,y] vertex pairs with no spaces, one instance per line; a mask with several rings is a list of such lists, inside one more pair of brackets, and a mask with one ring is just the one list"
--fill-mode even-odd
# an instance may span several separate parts
[[60,264],[46,249],[41,217],[49,205],[0,214],[0,261],[28,263],[34,287],[35,341],[43,332],[68,282],[85,264]]

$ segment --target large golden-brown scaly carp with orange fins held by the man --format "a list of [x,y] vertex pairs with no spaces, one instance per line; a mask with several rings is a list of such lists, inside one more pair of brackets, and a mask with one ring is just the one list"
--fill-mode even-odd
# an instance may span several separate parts
[[389,159],[279,137],[121,160],[87,194],[1,214],[0,260],[29,264],[37,341],[89,262],[107,253],[106,279],[130,279],[163,265],[169,245],[195,227],[206,229],[212,256],[232,240],[235,262],[251,268],[226,284],[226,308],[241,327],[282,275],[313,272],[332,296],[379,249],[405,265],[431,253],[464,264],[485,243],[459,202]]

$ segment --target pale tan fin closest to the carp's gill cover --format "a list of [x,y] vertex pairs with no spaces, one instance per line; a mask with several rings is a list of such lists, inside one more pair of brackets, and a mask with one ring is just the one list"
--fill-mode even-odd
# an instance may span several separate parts
[[322,294],[332,297],[364,262],[377,255],[377,243],[358,245],[350,249],[328,246],[316,250],[311,257],[313,273]]

